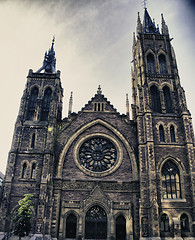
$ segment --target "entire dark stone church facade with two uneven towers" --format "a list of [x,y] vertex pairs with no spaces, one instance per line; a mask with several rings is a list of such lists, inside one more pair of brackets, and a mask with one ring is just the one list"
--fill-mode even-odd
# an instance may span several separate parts
[[[62,119],[54,41],[29,70],[9,152],[0,231],[26,193],[32,233],[55,239],[194,239],[194,133],[168,27],[147,9],[133,39],[132,120],[97,93]],[[37,235],[36,235],[37,234]]]

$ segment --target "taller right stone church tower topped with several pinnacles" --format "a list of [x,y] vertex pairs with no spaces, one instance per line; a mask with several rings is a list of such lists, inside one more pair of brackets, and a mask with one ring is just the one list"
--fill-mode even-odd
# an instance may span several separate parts
[[[140,237],[194,231],[194,133],[168,26],[145,8],[133,41],[132,116],[137,122]],[[191,224],[189,224],[189,221]]]

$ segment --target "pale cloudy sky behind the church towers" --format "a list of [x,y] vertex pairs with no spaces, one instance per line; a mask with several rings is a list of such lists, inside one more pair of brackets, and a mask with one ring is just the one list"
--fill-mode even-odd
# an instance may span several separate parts
[[[14,124],[29,69],[37,71],[55,35],[56,69],[64,88],[63,117],[70,92],[78,112],[101,85],[125,113],[131,103],[132,39],[142,0],[0,0],[0,171],[5,173]],[[148,0],[161,28],[161,13],[173,38],[181,85],[195,119],[194,0]],[[195,120],[193,122],[195,126]]]

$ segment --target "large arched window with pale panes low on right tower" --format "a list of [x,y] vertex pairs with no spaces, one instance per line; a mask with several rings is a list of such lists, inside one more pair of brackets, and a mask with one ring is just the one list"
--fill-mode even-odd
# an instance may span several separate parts
[[163,198],[182,197],[179,169],[171,160],[162,167],[162,196]]

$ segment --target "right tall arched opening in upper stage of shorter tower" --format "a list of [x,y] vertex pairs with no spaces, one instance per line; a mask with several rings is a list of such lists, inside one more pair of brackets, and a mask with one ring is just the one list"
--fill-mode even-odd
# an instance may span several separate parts
[[49,108],[51,102],[52,90],[51,88],[47,88],[44,93],[43,101],[42,101],[42,109],[41,109],[41,121],[47,121],[49,115]]

